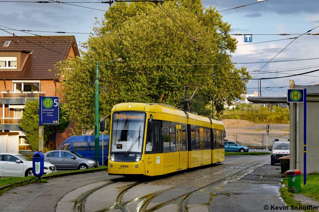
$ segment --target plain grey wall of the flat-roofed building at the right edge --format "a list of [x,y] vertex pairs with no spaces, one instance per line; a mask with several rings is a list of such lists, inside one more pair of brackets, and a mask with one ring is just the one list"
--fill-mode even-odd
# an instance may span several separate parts
[[[307,89],[308,93],[308,89]],[[304,173],[304,103],[299,103],[299,145],[296,146],[296,105],[290,103],[290,169],[299,169]],[[319,172],[319,89],[317,96],[307,95],[307,170],[306,173]],[[296,164],[296,148],[299,163]]]

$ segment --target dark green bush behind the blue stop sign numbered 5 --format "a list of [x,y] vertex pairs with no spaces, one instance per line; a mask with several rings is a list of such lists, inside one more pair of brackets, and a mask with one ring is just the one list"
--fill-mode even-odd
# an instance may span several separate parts
[[[63,133],[70,124],[70,118],[60,105],[59,124],[44,124],[44,146],[49,146],[49,140],[55,132]],[[39,149],[39,99],[26,102],[20,123],[22,130],[26,131],[26,140],[33,150]]]

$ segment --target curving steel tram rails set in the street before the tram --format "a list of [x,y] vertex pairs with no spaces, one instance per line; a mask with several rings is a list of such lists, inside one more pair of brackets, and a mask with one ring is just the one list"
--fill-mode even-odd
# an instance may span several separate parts
[[[137,182],[137,183],[128,185],[127,188],[125,188],[124,190],[122,190],[122,191],[117,195],[116,205],[113,205],[113,206],[111,206],[111,207],[108,207],[108,208],[105,208],[105,209],[101,209],[101,210],[98,210],[98,211],[95,211],[95,212],[106,212],[106,211],[110,211],[110,210],[113,210],[113,209],[120,209],[122,212],[129,212],[129,210],[127,209],[126,206],[129,205],[130,203],[133,203],[133,202],[138,203],[138,206],[137,206],[137,209],[136,209],[137,212],[148,212],[148,211],[153,211],[153,210],[159,209],[159,208],[161,208],[161,207],[163,207],[163,206],[165,206],[165,205],[167,205],[167,204],[169,204],[169,203],[171,203],[171,202],[174,202],[175,200],[178,200],[178,199],[180,199],[180,198],[183,198],[183,200],[182,200],[182,202],[181,202],[180,208],[181,208],[181,212],[184,212],[183,209],[185,208],[185,202],[186,202],[187,198],[189,198],[189,196],[191,196],[193,193],[195,193],[195,192],[197,192],[198,190],[201,190],[201,189],[203,189],[203,188],[206,188],[206,187],[208,187],[208,186],[211,186],[211,185],[213,185],[213,184],[216,184],[216,183],[218,183],[218,182],[220,182],[220,181],[223,181],[223,180],[225,180],[226,178],[229,178],[229,177],[231,177],[231,176],[234,176],[235,174],[238,174],[238,173],[240,173],[240,172],[243,172],[243,171],[245,171],[245,170],[247,170],[247,169],[249,169],[249,168],[251,168],[251,167],[257,166],[257,165],[261,164],[263,161],[260,162],[260,163],[257,163],[257,164],[254,164],[254,165],[245,167],[245,168],[243,168],[243,169],[241,169],[241,170],[239,170],[239,171],[236,171],[235,173],[228,174],[227,176],[225,176],[225,177],[223,177],[223,178],[220,178],[220,179],[218,179],[218,180],[215,180],[215,181],[213,181],[212,183],[209,183],[209,184],[207,184],[207,185],[204,185],[204,186],[202,186],[202,187],[200,187],[200,188],[197,188],[197,189],[195,189],[195,190],[189,191],[189,192],[187,192],[187,193],[185,193],[185,194],[179,195],[179,196],[177,196],[177,197],[175,197],[175,198],[172,198],[171,200],[162,202],[162,203],[160,203],[160,204],[158,204],[158,205],[152,206],[151,208],[148,208],[148,209],[147,209],[147,206],[148,206],[148,204],[149,204],[155,197],[159,196],[160,194],[163,194],[163,193],[166,192],[166,191],[172,190],[172,189],[174,189],[174,188],[177,188],[177,187],[180,187],[180,186],[183,186],[183,185],[192,183],[192,182],[196,182],[196,181],[203,180],[203,179],[206,178],[206,177],[211,177],[212,175],[220,174],[220,173],[222,173],[222,172],[229,171],[230,169],[242,168],[242,166],[244,166],[244,165],[246,165],[246,164],[249,164],[249,163],[252,163],[252,162],[254,162],[254,161],[260,161],[260,159],[248,161],[248,162],[246,162],[246,163],[242,163],[242,164],[238,164],[238,165],[235,165],[235,166],[232,166],[232,167],[229,167],[229,168],[225,168],[225,169],[220,170],[220,171],[218,171],[218,172],[214,172],[214,173],[212,173],[212,174],[209,174],[209,175],[206,175],[206,176],[203,176],[203,177],[200,177],[200,178],[191,180],[191,181],[187,181],[187,182],[184,182],[184,183],[182,183],[182,184],[178,184],[178,185],[176,185],[176,186],[173,186],[173,187],[170,187],[170,188],[167,188],[167,189],[164,189],[164,190],[160,190],[160,191],[157,191],[157,192],[154,192],[154,193],[150,193],[150,194],[147,194],[147,195],[143,195],[143,196],[140,196],[140,197],[136,197],[136,198],[134,198],[134,199],[132,199],[132,200],[130,200],[130,201],[125,201],[125,202],[123,202],[123,196],[124,196],[124,194],[125,194],[127,191],[129,191],[131,188],[133,188],[133,187],[135,187],[135,186],[137,186],[137,185],[139,185],[139,184],[141,184],[141,183],[146,182],[145,180],[139,181],[139,182]],[[153,180],[154,180],[154,178],[152,178],[152,181],[153,181]],[[155,179],[155,180],[157,180],[157,179]],[[163,178],[163,179],[161,179],[161,180],[165,180],[165,178]],[[111,182],[111,183],[107,183],[107,184],[105,184],[105,185],[102,185],[102,186],[100,186],[100,187],[94,188],[94,189],[92,189],[92,190],[86,192],[84,195],[82,195],[82,196],[78,199],[77,204],[76,204],[76,208],[75,208],[75,212],[85,212],[85,200],[86,200],[86,198],[87,198],[89,195],[91,195],[91,194],[94,193],[95,191],[97,191],[97,190],[99,190],[99,189],[101,189],[101,188],[103,188],[103,187],[105,187],[105,186],[111,185],[111,184],[113,184],[113,183],[118,183],[118,182],[121,182],[121,180],[119,180],[119,181],[114,181],[114,182]],[[150,181],[147,181],[147,182],[150,182]]]

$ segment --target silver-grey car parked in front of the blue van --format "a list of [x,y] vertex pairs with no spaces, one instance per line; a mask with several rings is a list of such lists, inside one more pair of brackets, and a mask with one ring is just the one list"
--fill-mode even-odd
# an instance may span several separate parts
[[99,162],[68,150],[53,150],[44,153],[44,161],[56,166],[56,169],[86,169],[99,167]]

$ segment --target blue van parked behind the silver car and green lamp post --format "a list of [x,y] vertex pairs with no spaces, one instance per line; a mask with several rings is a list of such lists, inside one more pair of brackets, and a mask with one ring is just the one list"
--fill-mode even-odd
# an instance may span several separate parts
[[[103,150],[104,150],[104,165],[108,164],[108,143],[110,140],[109,135],[103,137]],[[94,135],[75,135],[65,140],[57,150],[70,150],[78,154],[94,159]],[[100,160],[99,164],[102,165],[102,135],[100,135]]]

